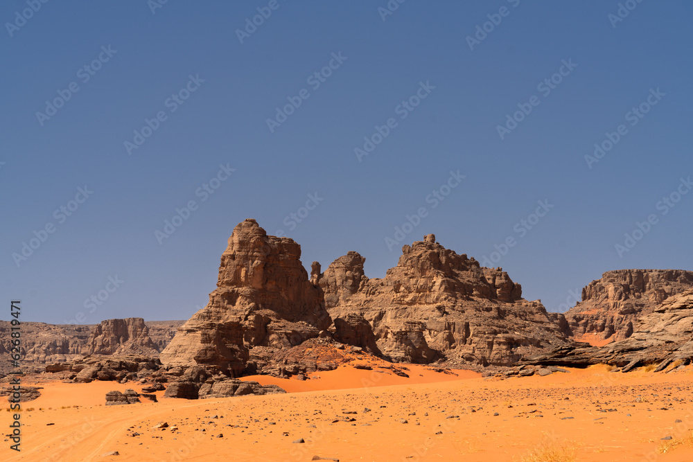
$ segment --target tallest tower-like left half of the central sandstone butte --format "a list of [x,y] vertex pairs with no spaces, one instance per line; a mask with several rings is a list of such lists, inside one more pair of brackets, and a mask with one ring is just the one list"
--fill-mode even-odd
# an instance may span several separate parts
[[261,373],[268,354],[318,337],[332,320],[300,256],[292,239],[267,236],[255,220],[238,224],[221,257],[217,289],[178,329],[161,361],[236,377]]

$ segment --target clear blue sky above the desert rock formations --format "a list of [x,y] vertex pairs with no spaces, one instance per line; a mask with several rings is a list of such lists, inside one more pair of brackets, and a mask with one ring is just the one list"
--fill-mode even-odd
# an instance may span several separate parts
[[[633,1],[622,21],[615,0],[150,3],[0,6],[0,292],[25,321],[187,319],[247,217],[307,267],[356,250],[369,277],[426,233],[477,260],[511,238],[493,266],[554,311],[610,269],[693,269],[693,194],[658,204],[693,175],[690,2]],[[239,34],[256,8],[271,15]]]

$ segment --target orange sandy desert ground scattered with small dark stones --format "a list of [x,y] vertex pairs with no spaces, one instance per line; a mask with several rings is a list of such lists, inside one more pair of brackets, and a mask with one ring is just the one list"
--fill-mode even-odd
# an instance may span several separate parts
[[[306,381],[248,377],[290,391],[283,395],[109,407],[107,391],[139,387],[46,384],[22,414],[21,453],[5,441],[0,459],[693,461],[691,368],[624,374],[593,366],[498,380],[405,367],[409,378],[342,366]],[[2,414],[7,428],[10,413]],[[162,422],[168,427],[152,428]],[[110,451],[120,455],[102,456]]]

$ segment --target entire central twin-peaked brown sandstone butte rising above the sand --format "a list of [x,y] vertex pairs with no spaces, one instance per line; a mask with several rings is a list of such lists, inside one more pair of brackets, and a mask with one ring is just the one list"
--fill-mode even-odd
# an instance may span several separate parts
[[[349,344],[394,362],[509,366],[572,344],[561,314],[522,298],[502,269],[480,267],[435,242],[405,245],[385,278],[367,278],[356,252],[310,277],[301,247],[238,224],[209,303],[181,326],[159,358],[234,377],[284,375],[336,364],[321,344]],[[322,356],[327,355],[327,357]]]

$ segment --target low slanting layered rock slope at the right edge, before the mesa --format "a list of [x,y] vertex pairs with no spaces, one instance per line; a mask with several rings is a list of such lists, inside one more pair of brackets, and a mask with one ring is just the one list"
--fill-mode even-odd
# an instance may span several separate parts
[[611,364],[623,372],[646,364],[655,371],[693,360],[693,290],[670,296],[634,322],[633,335],[606,346],[566,346],[523,359],[523,364],[575,366]]

